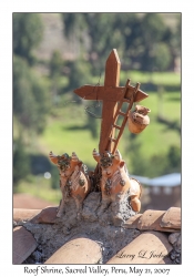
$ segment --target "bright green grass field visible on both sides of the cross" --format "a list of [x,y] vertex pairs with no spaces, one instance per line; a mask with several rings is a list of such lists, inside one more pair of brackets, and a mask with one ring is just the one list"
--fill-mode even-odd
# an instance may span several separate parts
[[[150,157],[155,151],[157,151],[157,153],[166,153],[172,143],[180,145],[180,134],[159,123],[157,114],[160,113],[160,106],[162,106],[164,116],[171,121],[178,121],[181,125],[181,101],[177,101],[181,93],[165,93],[163,103],[159,103],[156,93],[149,94],[149,98],[140,102],[140,104],[151,109],[151,113],[149,114],[151,123],[141,134],[136,135],[136,140],[141,144],[142,155]],[[93,138],[90,130],[85,127],[89,115],[85,114],[84,106],[85,105],[82,104],[76,107],[76,104],[72,103],[64,107],[58,107],[60,116],[51,119],[43,134],[39,136],[39,142],[42,147],[44,147],[45,154],[49,153],[50,150],[55,153],[61,153],[65,150],[70,150],[71,152],[71,150],[74,150],[86,164],[94,166],[95,162],[91,153],[94,147],[98,148],[99,137]],[[98,124],[96,127],[98,131],[100,131],[101,121],[93,117],[91,119]],[[129,130],[126,126],[124,136],[121,138],[120,148],[124,148],[126,144],[130,144],[130,141],[125,140],[127,133]],[[157,145],[161,145],[160,150],[157,150]]]

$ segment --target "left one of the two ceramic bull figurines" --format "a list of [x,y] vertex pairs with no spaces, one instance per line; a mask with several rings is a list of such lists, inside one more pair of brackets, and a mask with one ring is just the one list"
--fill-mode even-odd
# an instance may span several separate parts
[[60,172],[62,201],[59,205],[57,216],[61,217],[64,212],[65,202],[69,197],[72,197],[75,201],[78,218],[80,218],[82,203],[91,188],[86,166],[78,158],[74,152],[72,156],[69,156],[67,153],[59,156],[54,155],[51,151],[49,157],[50,161],[58,166]]

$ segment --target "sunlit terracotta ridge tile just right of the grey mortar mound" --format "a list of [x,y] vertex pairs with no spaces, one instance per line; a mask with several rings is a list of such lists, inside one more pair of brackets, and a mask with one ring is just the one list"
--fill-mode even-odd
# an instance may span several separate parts
[[143,213],[143,215],[140,217],[137,223],[137,229],[140,230],[161,230],[161,232],[176,232],[175,229],[166,229],[161,227],[160,223],[162,220],[163,215],[165,214],[165,211],[154,211],[154,209],[147,209]]

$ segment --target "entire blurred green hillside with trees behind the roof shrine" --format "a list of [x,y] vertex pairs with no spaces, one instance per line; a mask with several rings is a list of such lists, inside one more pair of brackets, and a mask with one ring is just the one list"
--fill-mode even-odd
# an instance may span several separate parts
[[102,103],[73,90],[103,84],[112,49],[120,85],[140,82],[151,110],[150,125],[139,135],[126,126],[120,141],[129,172],[181,172],[180,13],[13,13],[13,192],[59,201],[50,151],[74,151],[95,167]]

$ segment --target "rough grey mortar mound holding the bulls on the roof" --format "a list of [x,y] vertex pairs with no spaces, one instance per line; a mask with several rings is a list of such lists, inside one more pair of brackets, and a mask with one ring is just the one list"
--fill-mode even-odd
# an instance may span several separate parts
[[[89,194],[83,203],[82,217],[80,220],[76,218],[74,201],[70,198],[65,214],[57,218],[54,224],[23,223],[23,226],[31,232],[38,242],[44,260],[71,239],[85,237],[101,245],[102,260],[100,263],[105,264],[121,248],[141,234],[137,229],[124,228],[122,226],[124,219],[122,222],[114,220],[114,203],[111,204],[103,216],[99,218],[96,209],[100,203],[101,193],[93,192]],[[126,206],[126,199],[120,203],[119,211],[122,218],[125,219],[135,214],[129,205]]]

